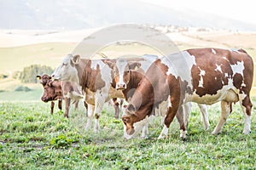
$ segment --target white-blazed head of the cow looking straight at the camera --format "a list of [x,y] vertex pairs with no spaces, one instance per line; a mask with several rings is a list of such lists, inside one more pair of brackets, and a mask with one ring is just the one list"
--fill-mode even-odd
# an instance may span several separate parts
[[136,70],[141,64],[139,62],[129,62],[126,59],[117,59],[113,67],[114,81],[116,89],[124,90],[131,80],[131,70]]

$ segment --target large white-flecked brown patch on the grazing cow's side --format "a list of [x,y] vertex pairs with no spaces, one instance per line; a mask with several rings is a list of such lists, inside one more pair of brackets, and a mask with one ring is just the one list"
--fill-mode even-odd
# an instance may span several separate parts
[[[200,97],[209,94],[217,94],[218,90],[228,84],[228,79],[232,77],[233,71],[230,63],[235,63],[239,59],[231,57],[229,50],[214,48],[216,54],[212,54],[212,48],[189,49],[190,55],[195,56],[196,65],[192,66],[191,75],[193,77],[193,91]],[[200,66],[198,66],[200,65]],[[217,65],[221,71],[217,70]],[[205,71],[205,75],[201,76],[201,71]],[[202,87],[199,82],[203,79]]]

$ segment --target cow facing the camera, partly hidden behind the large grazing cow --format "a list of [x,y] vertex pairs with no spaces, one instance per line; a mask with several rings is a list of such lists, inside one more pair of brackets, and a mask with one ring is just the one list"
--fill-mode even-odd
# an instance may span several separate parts
[[[148,67],[156,59],[158,59],[158,57],[155,55],[143,55],[140,60],[133,59],[137,60],[137,63],[139,64],[136,66],[136,63],[131,63],[128,59],[116,59],[115,65],[113,66],[113,77],[116,84],[115,88],[122,90],[126,101],[131,99],[131,96],[134,94],[139,82],[144,77],[145,72],[148,71]],[[207,114],[207,105],[198,104],[198,106],[203,117],[203,126],[207,130],[210,127]],[[183,105],[183,109],[185,110],[184,123],[186,127],[188,127],[191,107],[192,104],[189,102]],[[165,117],[165,112],[162,110],[163,108],[155,108],[153,114]],[[179,117],[177,116],[177,118]],[[145,136],[145,132],[148,132],[148,130],[143,128],[143,137]]]

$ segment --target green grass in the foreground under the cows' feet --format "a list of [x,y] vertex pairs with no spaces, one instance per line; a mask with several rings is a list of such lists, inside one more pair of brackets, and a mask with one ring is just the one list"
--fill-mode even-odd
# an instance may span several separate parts
[[[253,100],[256,105],[256,100]],[[219,104],[209,107],[210,131],[205,131],[193,107],[186,142],[179,139],[177,121],[167,139],[157,140],[160,120],[149,126],[148,139],[123,139],[123,124],[106,105],[101,132],[84,131],[84,108],[69,119],[61,111],[49,114],[43,102],[0,103],[0,168],[2,169],[253,169],[255,121],[252,133],[242,134],[239,105],[218,136],[210,133],[219,118]]]

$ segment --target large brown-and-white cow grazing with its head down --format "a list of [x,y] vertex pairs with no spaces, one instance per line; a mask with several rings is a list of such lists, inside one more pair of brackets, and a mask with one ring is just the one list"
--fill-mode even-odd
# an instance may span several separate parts
[[[212,105],[221,101],[221,116],[212,134],[221,132],[230,115],[230,104],[240,102],[243,133],[251,132],[253,59],[243,49],[195,48],[157,59],[135,90],[122,121],[125,139],[141,131],[155,107],[166,106],[164,127],[158,139],[166,138],[177,112],[187,102]],[[180,126],[186,138],[186,127]]]

